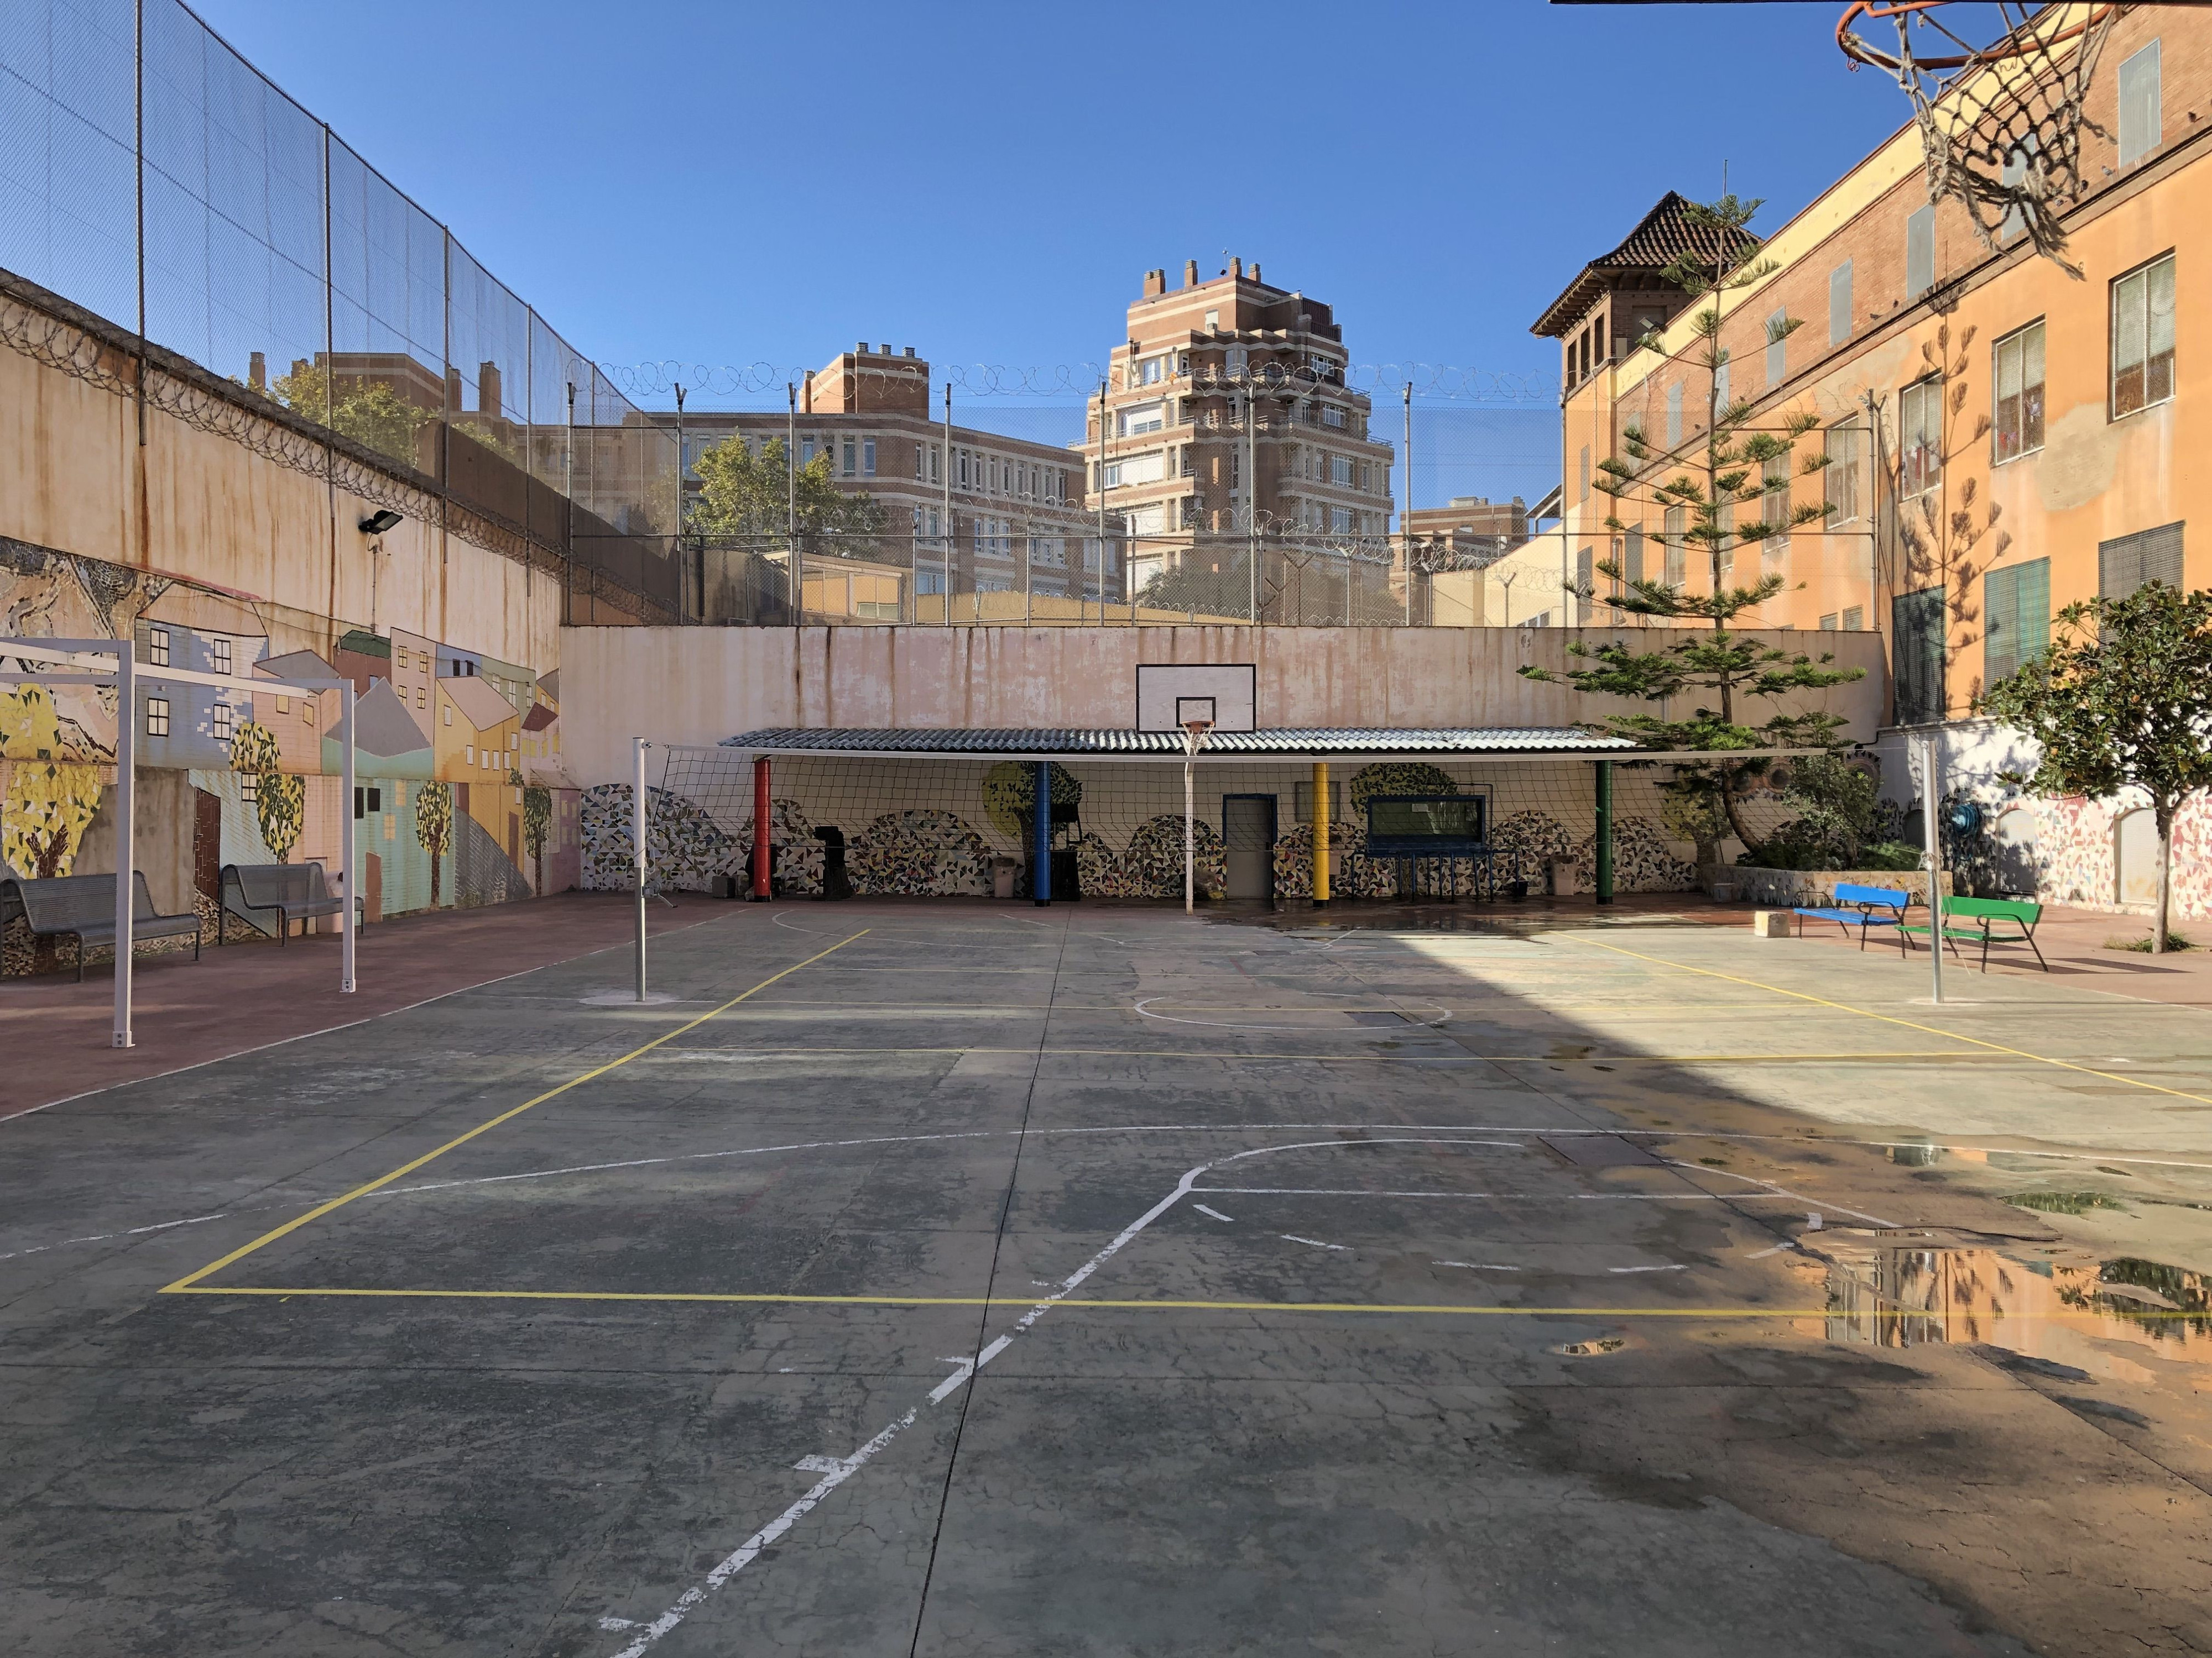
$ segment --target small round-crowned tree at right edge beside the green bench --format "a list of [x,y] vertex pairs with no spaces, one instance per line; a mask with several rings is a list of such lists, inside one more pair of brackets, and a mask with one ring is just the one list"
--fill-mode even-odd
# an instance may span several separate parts
[[2044,794],[2150,796],[2159,898],[2150,948],[2166,951],[2174,811],[2212,787],[2212,590],[2150,581],[2051,619],[2051,646],[1975,699],[1975,710],[2035,738]]

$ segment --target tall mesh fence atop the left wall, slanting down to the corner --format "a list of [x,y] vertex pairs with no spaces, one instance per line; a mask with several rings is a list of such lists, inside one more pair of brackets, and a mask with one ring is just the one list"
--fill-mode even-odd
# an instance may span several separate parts
[[0,13],[0,270],[675,619],[675,438],[177,0]]

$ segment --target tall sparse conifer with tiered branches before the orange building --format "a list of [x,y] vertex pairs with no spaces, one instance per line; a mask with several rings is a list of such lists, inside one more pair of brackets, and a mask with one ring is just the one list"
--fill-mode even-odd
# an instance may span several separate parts
[[[1816,661],[1730,632],[1736,617],[1790,586],[1774,570],[1736,579],[1739,550],[1756,553],[1765,542],[1823,522],[1832,511],[1825,500],[1792,504],[1790,497],[1792,469],[1796,475],[1818,478],[1827,466],[1825,453],[1796,458],[1796,440],[1818,424],[1818,416],[1790,411],[1778,427],[1756,427],[1750,398],[1739,398],[1730,389],[1730,354],[1721,345],[1728,301],[1778,270],[1772,259],[1759,256],[1759,239],[1747,230],[1759,206],[1734,195],[1712,203],[1688,203],[1686,217],[1699,232],[1701,250],[1677,254],[1663,274],[1697,305],[1690,316],[1690,343],[1683,351],[1666,356],[1659,351],[1657,332],[1637,340],[1639,349],[1652,351],[1663,363],[1683,365],[1692,380],[1701,382],[1703,433],[1692,444],[1661,449],[1639,427],[1626,427],[1624,455],[1608,455],[1599,464],[1599,478],[1593,480],[1593,486],[1613,500],[1606,528],[1615,535],[1641,533],[1652,522],[1666,524],[1668,513],[1679,513],[1679,539],[1686,548],[1703,553],[1710,573],[1705,590],[1690,592],[1663,577],[1630,577],[1608,557],[1595,566],[1613,588],[1606,604],[1635,617],[1710,626],[1710,632],[1701,639],[1674,639],[1657,650],[1626,641],[1590,646],[1577,639],[1568,643],[1568,654],[1593,663],[1590,668],[1566,674],[1522,668],[1528,679],[1566,681],[1575,690],[1601,696],[1650,703],[1681,696],[1710,699],[1710,703],[1699,701],[1688,718],[1615,714],[1593,721],[1593,730],[1628,736],[1648,747],[1820,747],[1845,721],[1834,714],[1790,712],[1752,721],[1750,703],[1774,703],[1798,692],[1865,679],[1860,668],[1829,668],[1834,661],[1829,654]],[[1803,318],[1783,316],[1767,325],[1767,340],[1787,338],[1801,325]],[[1624,517],[1624,511],[1632,520]],[[1597,597],[1595,581],[1571,581],[1566,590],[1584,604]],[[1670,787],[1690,796],[1712,796],[1730,831],[1759,858],[1763,844],[1743,820],[1741,798],[1765,769],[1765,760],[1683,767]]]

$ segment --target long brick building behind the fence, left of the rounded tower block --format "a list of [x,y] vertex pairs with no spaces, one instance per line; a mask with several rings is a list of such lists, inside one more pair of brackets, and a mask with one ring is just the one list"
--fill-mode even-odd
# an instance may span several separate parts
[[[830,478],[841,491],[872,495],[887,513],[887,537],[852,548],[849,562],[874,566],[854,588],[856,619],[898,621],[942,617],[931,595],[1033,592],[1037,597],[1102,597],[1095,522],[1084,517],[1082,464],[1057,444],[1006,438],[995,431],[933,420],[929,363],[914,347],[894,351],[865,340],[807,374],[796,420],[787,411],[686,413],[684,493],[699,495],[699,455],[732,436],[757,453],[796,433],[796,458],[807,466],[830,455]],[[655,413],[675,427],[677,416]],[[1110,553],[1110,550],[1108,550]],[[843,615],[841,579],[816,579],[810,559],[807,610]],[[911,579],[911,588],[907,581]],[[1104,573],[1104,597],[1121,597],[1119,570]],[[960,619],[960,606],[951,608]]]

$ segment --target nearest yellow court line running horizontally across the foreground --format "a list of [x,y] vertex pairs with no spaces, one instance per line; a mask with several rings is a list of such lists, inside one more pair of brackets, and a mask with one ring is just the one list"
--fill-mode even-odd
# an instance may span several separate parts
[[[164,1295],[312,1295],[323,1300],[447,1300],[447,1302],[703,1302],[741,1307],[1040,1307],[1044,1295],[745,1295],[717,1291],[619,1291],[619,1289],[283,1289],[254,1284],[223,1289],[221,1284],[170,1284]],[[1475,1318],[1834,1318],[1829,1307],[1460,1307],[1453,1302],[1183,1302],[1183,1300],[1079,1300],[1053,1302],[1055,1309],[1088,1307],[1095,1311],[1137,1313],[1436,1313]],[[1913,1309],[1869,1309],[1854,1318],[1929,1318]],[[2042,1322],[2097,1320],[2110,1313],[2006,1313]],[[2203,1318],[2188,1309],[2130,1309],[2126,1318]]]

